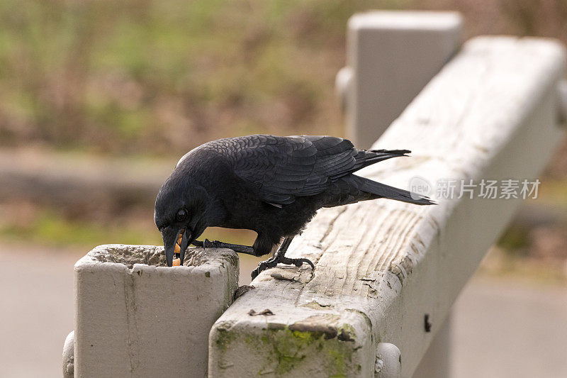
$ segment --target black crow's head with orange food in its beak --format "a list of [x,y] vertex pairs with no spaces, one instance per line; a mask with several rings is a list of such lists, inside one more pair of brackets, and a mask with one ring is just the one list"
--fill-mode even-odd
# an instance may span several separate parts
[[155,200],[154,221],[162,233],[167,266],[173,264],[174,254],[181,265],[187,246],[207,228],[206,217],[210,198],[207,191],[176,172],[159,189]]

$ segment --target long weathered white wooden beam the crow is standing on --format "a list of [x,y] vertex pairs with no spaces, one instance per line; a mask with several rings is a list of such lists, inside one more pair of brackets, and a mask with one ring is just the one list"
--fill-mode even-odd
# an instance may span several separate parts
[[[475,38],[375,143],[412,157],[364,172],[408,187],[438,179],[532,179],[564,130],[551,40]],[[369,377],[376,343],[401,351],[411,377],[520,199],[369,201],[320,211],[288,252],[315,271],[278,267],[254,280],[210,333],[210,377]],[[274,315],[251,316],[269,308]],[[431,332],[426,332],[425,315]]]

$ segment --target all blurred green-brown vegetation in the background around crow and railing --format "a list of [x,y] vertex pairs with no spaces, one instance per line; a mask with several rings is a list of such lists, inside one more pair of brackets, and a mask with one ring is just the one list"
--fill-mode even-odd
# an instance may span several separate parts
[[[335,74],[344,65],[348,18],[369,9],[456,10],[465,18],[465,38],[506,33],[567,43],[564,0],[5,0],[0,148],[38,150],[36,159],[45,151],[69,160],[159,157],[173,167],[186,151],[216,138],[344,135]],[[533,204],[507,231],[505,252],[491,266],[550,261],[563,277],[567,144]],[[54,206],[5,197],[0,238],[84,250],[159,244],[152,206],[147,200]],[[227,232],[207,236],[250,238]]]

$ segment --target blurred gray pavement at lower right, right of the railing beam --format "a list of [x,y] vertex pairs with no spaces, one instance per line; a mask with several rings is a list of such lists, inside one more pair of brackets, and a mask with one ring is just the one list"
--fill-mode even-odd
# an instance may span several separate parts
[[454,377],[567,377],[567,287],[474,279],[454,310]]

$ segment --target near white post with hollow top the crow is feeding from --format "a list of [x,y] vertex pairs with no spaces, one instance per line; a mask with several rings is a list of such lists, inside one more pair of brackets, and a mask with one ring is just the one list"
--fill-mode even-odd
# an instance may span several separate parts
[[231,250],[101,245],[75,265],[76,377],[206,377],[208,333],[238,282]]

